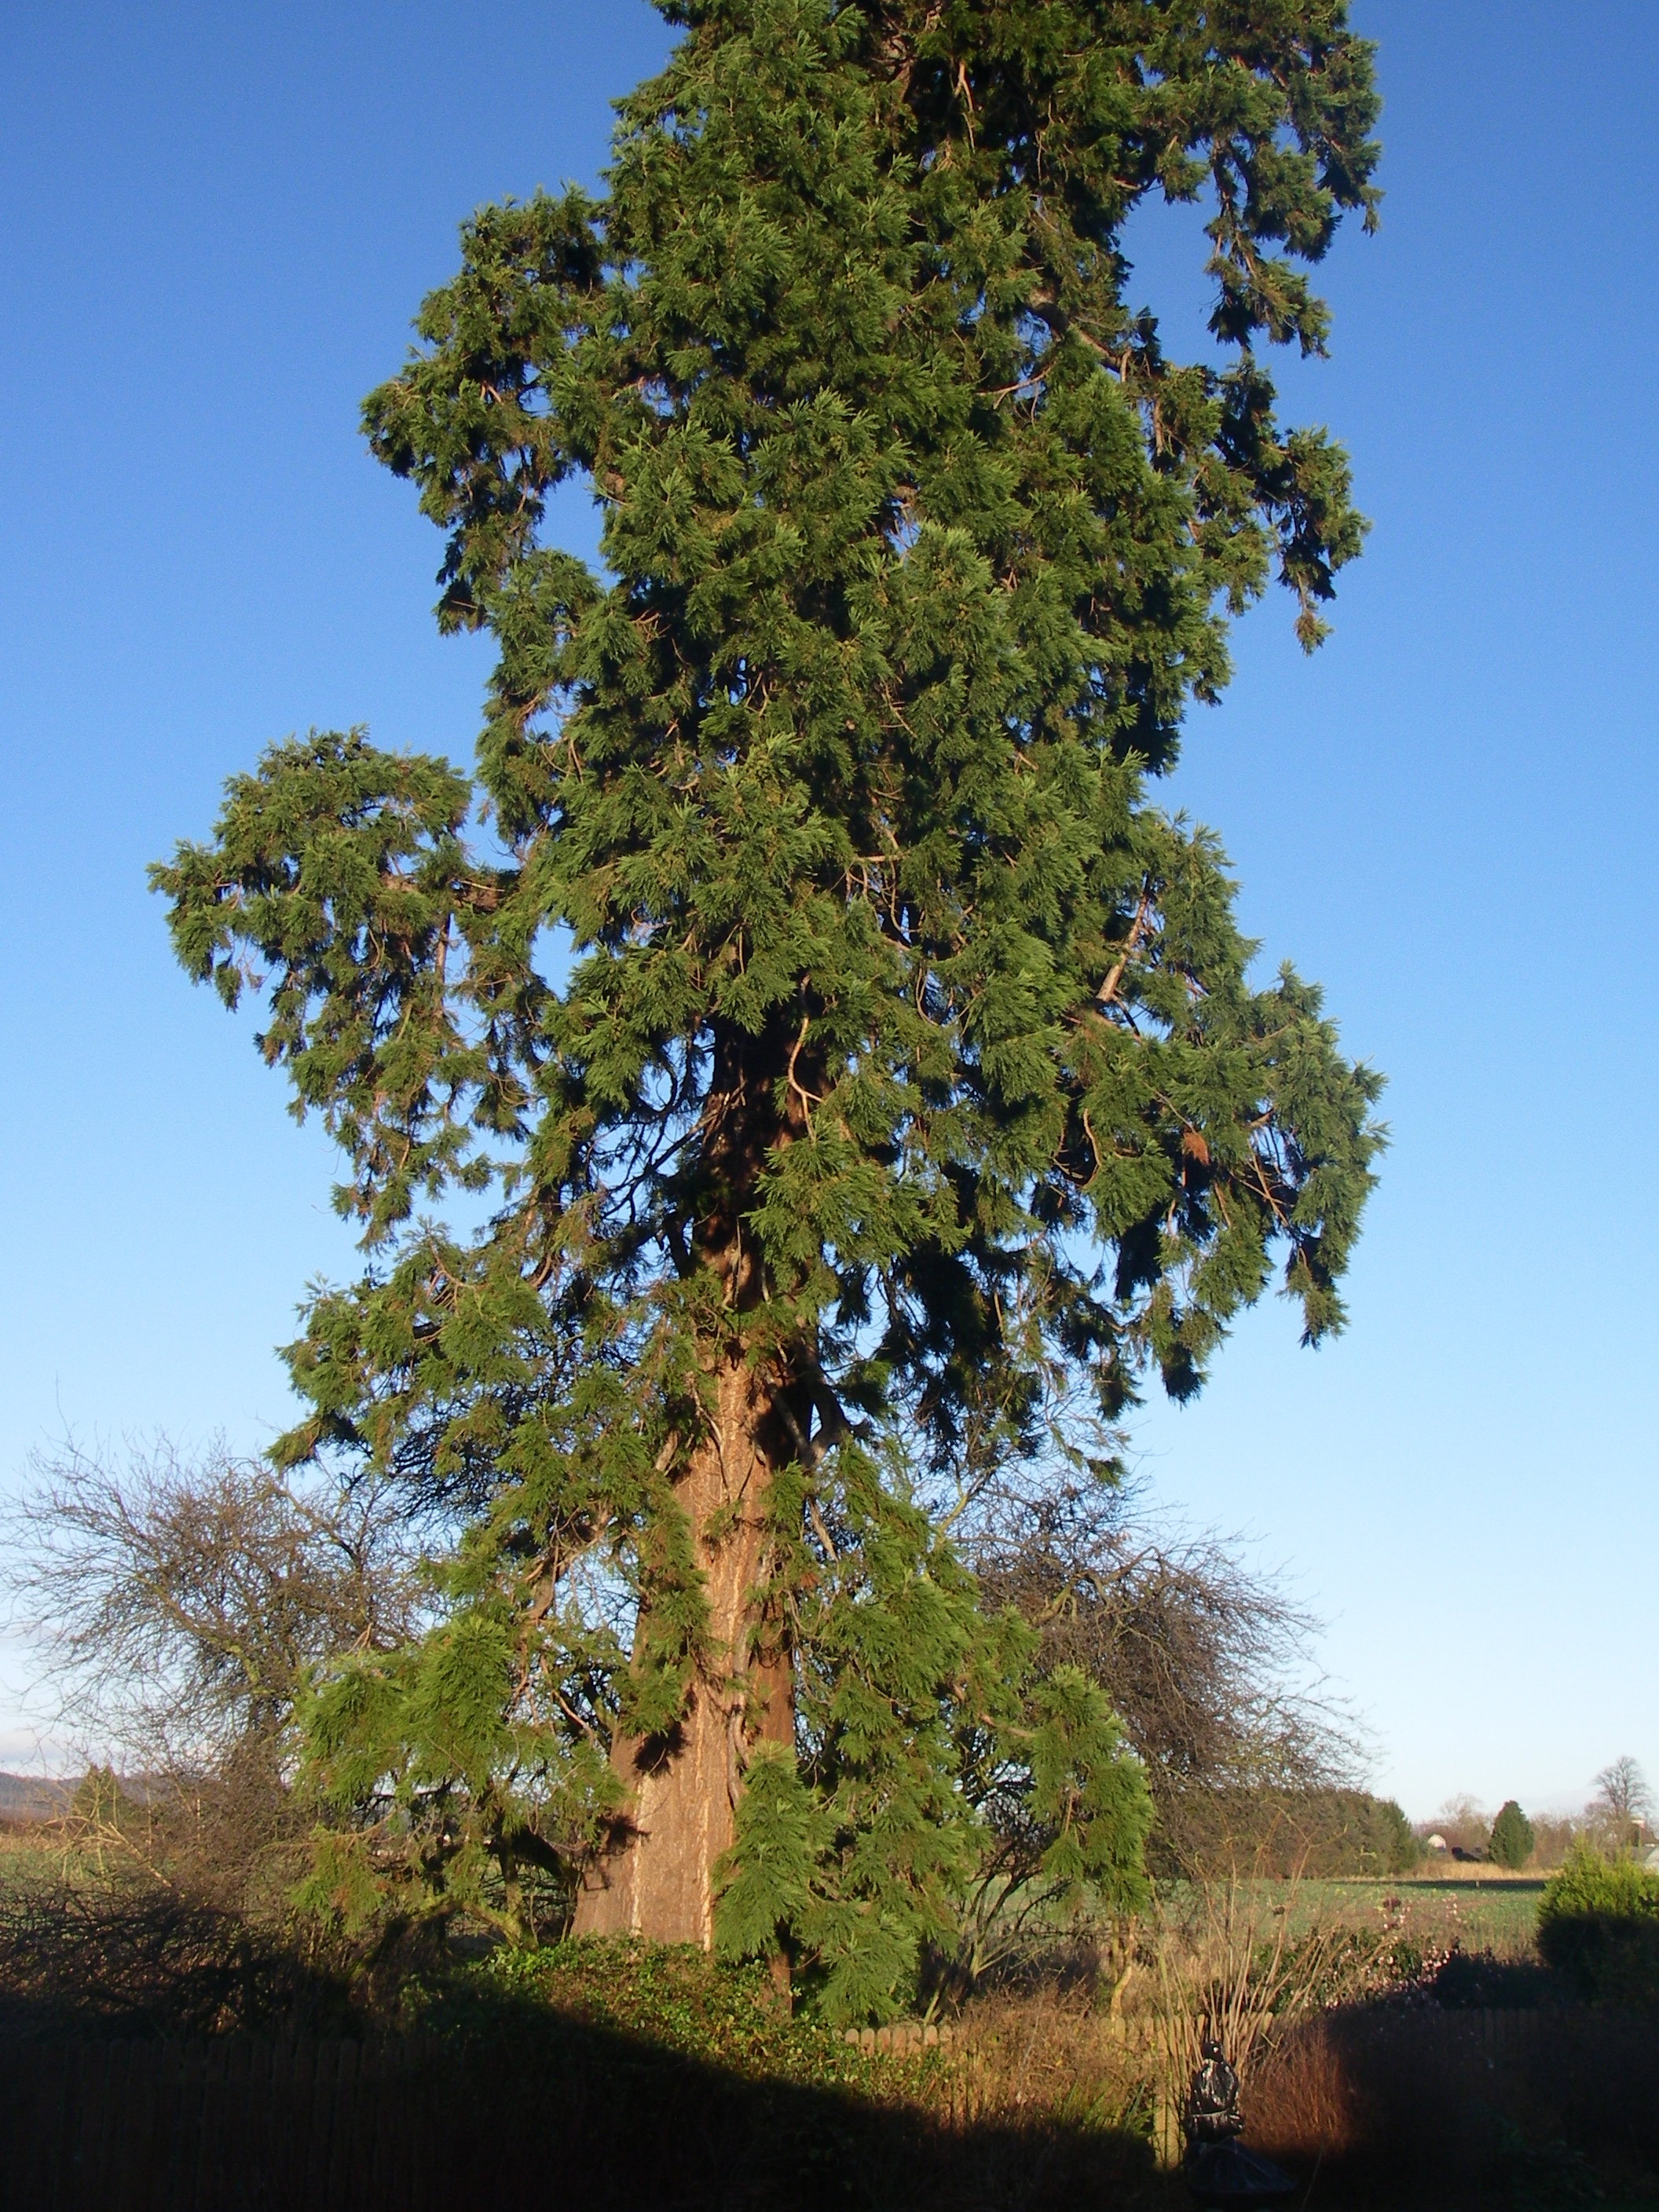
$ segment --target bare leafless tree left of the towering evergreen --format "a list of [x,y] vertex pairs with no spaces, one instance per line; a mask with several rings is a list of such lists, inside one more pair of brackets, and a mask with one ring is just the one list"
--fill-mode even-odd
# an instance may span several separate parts
[[416,1626],[376,1493],[223,1449],[69,1444],[0,1546],[42,1719],[104,1763],[60,1823],[60,1878],[0,1905],[0,2013],[195,2033],[336,2002],[321,1933],[292,1927],[312,1825],[294,1703],[316,1661]]

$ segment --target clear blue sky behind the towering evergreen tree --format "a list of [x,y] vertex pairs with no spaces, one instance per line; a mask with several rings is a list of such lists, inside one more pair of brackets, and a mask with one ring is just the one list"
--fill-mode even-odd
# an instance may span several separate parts
[[[1287,387],[1376,529],[1314,661],[1283,606],[1243,626],[1177,799],[1389,1073],[1394,1150],[1347,1338],[1267,1303],[1137,1451],[1327,1617],[1409,1812],[1575,1803],[1619,1752],[1659,1781],[1659,9],[1354,13],[1385,226]],[[4,13],[0,1484],[64,1427],[285,1425],[270,1347],[352,1263],[332,1161],[144,863],[310,723],[469,754],[484,655],[436,637],[438,540],[356,403],[456,221],[593,177],[664,44],[639,0]],[[1190,338],[1192,226],[1133,246]]]

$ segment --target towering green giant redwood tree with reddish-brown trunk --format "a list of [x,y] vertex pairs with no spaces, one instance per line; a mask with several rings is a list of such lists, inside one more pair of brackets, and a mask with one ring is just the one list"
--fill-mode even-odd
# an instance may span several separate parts
[[[1376,1079],[1150,792],[1228,617],[1276,575],[1316,644],[1360,544],[1261,349],[1323,347],[1376,97],[1343,0],[664,11],[604,195],[478,212],[365,407],[498,646],[478,783],[312,734],[155,880],[363,1223],[281,1458],[429,1531],[422,1635],[310,1703],[341,1896],[566,1869],[869,2013],[1137,1882],[975,1486],[1088,1480],[1274,1270],[1340,1323]],[[1208,363],[1130,305],[1148,195],[1210,208]]]

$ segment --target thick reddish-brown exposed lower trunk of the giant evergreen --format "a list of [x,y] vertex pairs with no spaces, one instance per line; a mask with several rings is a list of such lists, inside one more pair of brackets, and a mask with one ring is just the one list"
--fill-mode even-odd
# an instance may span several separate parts
[[[668,1736],[619,1736],[611,1763],[630,1805],[588,1867],[577,1936],[714,1940],[714,1860],[732,1843],[748,1745],[794,1741],[790,1661],[750,1657],[750,1593],[761,1579],[772,1482],[770,1394],[743,1365],[719,1376],[712,1433],[677,1495],[690,1517],[708,1597],[708,1663]],[[717,1535],[710,1535],[710,1524]]]

